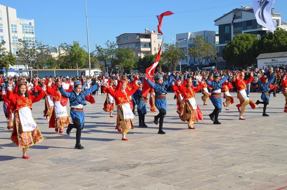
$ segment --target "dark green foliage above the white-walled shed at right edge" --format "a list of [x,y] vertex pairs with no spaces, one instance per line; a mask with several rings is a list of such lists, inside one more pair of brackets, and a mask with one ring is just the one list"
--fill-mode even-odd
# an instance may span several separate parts
[[259,54],[287,51],[287,31],[277,29],[263,35],[258,42]]

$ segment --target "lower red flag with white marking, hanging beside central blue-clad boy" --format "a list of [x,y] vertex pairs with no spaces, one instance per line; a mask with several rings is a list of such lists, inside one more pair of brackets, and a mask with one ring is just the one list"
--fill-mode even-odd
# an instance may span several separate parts
[[[161,42],[162,46],[162,42]],[[149,80],[152,80],[153,74],[155,73],[155,68],[158,65],[159,60],[161,60],[161,47],[159,48],[158,54],[155,58],[155,63],[153,63],[149,68],[146,69],[146,75],[149,78]],[[147,96],[147,93],[149,92],[149,84],[146,82],[146,80],[143,80],[143,90],[142,94],[144,97]]]

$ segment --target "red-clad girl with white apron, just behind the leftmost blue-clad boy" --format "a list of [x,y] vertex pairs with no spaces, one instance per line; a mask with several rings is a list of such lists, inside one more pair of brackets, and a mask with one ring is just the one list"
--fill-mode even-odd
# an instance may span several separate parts
[[57,85],[48,86],[47,94],[53,97],[54,102],[54,110],[49,121],[49,128],[55,128],[57,133],[64,133],[62,129],[71,124],[66,108],[68,99],[62,96]]

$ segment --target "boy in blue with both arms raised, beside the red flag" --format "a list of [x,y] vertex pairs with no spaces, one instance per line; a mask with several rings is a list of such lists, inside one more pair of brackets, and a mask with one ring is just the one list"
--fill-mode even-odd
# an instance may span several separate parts
[[162,75],[156,75],[155,76],[156,83],[153,83],[148,79],[147,75],[144,75],[146,82],[149,84],[150,87],[152,87],[155,90],[155,106],[158,109],[159,113],[158,115],[155,116],[154,123],[157,125],[159,119],[158,134],[165,134],[165,132],[162,130],[162,127],[164,123],[164,117],[167,114],[166,85],[168,86],[171,83],[175,73],[176,71],[174,71],[165,82],[163,82]]

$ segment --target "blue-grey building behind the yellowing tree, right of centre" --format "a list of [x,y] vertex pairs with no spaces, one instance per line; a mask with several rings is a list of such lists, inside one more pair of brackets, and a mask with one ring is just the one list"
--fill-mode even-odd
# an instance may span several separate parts
[[[215,37],[215,31],[199,31],[176,34],[176,41],[181,41],[179,42],[179,48],[183,49],[186,52],[187,56],[187,60],[181,60],[182,70],[195,70],[197,67],[200,66],[198,60],[195,57],[190,57],[188,53],[188,49],[194,46],[193,40],[191,38],[195,38],[196,36],[203,36],[208,43],[214,46],[218,41],[218,38]],[[208,66],[211,61],[212,60],[204,60],[202,66]],[[177,69],[179,69],[179,63]]]

